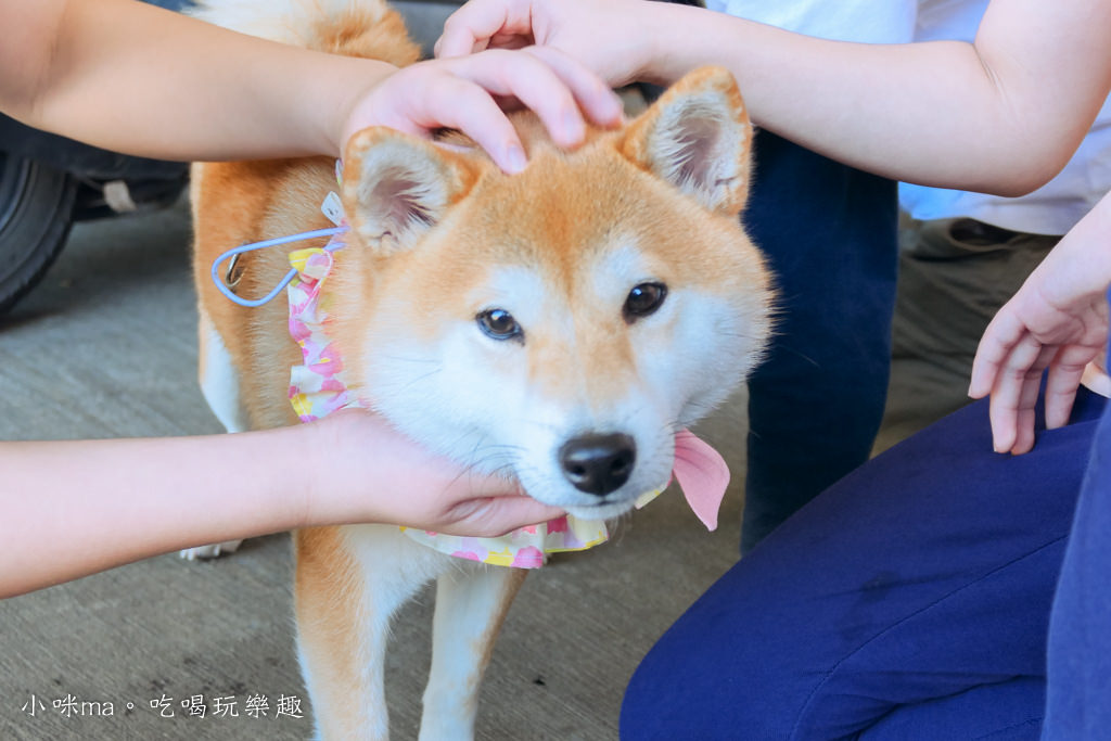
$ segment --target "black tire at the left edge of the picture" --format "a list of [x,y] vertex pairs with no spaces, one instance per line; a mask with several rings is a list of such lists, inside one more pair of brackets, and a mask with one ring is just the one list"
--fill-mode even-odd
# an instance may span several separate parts
[[72,223],[77,182],[40,162],[0,152],[0,313],[42,278]]

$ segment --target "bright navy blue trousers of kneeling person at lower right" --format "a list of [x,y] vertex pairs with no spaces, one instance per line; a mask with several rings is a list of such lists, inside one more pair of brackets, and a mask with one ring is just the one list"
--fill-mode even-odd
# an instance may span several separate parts
[[[1037,739],[1050,609],[1104,407],[1081,390],[1068,427],[1011,457],[991,452],[978,402],[838,482],[650,651],[622,738]],[[1050,639],[1053,739],[1111,738],[1104,417]]]

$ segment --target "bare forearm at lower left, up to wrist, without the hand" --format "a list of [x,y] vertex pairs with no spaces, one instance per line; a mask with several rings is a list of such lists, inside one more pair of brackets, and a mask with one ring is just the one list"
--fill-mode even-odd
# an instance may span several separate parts
[[0,443],[0,598],[304,524],[294,431]]

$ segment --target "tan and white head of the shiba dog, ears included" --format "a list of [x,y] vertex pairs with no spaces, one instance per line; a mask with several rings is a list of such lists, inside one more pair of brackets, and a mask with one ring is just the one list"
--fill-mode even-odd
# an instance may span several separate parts
[[715,68],[572,153],[517,123],[514,176],[386,129],[352,140],[333,334],[403,432],[609,518],[668,481],[674,433],[763,349],[771,290],[738,219],[752,129]]

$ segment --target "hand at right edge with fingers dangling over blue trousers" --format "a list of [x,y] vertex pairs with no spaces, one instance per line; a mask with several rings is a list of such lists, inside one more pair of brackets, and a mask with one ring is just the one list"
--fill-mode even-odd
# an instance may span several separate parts
[[1107,352],[1109,286],[1111,196],[1105,196],[999,310],[980,340],[969,395],[991,395],[997,452],[1033,448],[1034,405],[1047,368],[1050,429],[1068,423],[1085,373],[1085,382],[1107,394],[1111,382],[1105,369],[1091,366],[1098,367]]

